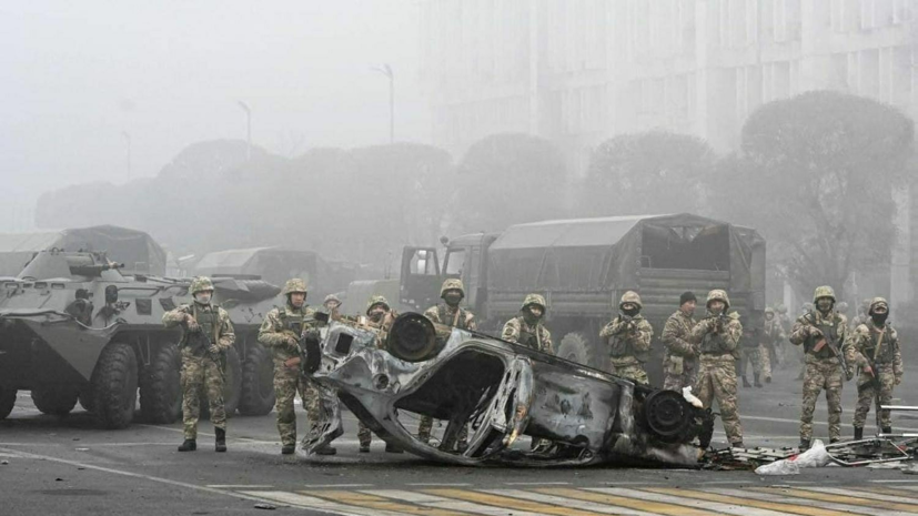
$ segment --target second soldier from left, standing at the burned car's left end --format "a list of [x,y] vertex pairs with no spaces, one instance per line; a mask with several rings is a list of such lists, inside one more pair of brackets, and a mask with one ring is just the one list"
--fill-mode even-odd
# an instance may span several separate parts
[[[259,328],[259,342],[271,350],[274,356],[274,409],[278,412],[278,432],[281,434],[281,453],[291,455],[296,451],[296,413],[293,399],[300,399],[306,408],[310,423],[321,417],[319,393],[302,376],[297,366],[300,337],[306,330],[316,326],[315,311],[306,305],[309,291],[306,282],[299,277],[287,280],[281,294],[286,297],[283,307],[268,312]],[[319,455],[334,455],[336,449],[324,446],[315,451]]]

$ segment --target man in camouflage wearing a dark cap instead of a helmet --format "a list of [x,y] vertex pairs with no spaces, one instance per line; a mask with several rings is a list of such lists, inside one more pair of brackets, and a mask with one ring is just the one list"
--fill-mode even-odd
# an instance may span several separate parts
[[698,350],[688,342],[692,328],[695,327],[695,305],[698,300],[692,292],[684,292],[679,296],[677,310],[663,327],[660,341],[666,346],[663,357],[663,371],[666,374],[663,388],[679,391],[695,385],[698,373]]

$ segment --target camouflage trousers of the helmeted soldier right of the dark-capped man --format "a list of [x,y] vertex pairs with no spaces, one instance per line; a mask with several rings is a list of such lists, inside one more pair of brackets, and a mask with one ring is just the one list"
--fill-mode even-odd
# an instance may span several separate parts
[[710,408],[714,401],[720,409],[724,432],[730,444],[743,441],[743,425],[736,403],[736,360],[730,354],[702,355],[698,367],[698,383],[695,396],[705,408]]

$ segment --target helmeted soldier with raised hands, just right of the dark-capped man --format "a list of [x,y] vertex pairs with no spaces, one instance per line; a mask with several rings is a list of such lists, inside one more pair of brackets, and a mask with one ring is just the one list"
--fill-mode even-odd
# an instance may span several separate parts
[[743,325],[739,317],[727,315],[730,300],[722,290],[707,295],[707,316],[692,328],[690,342],[699,346],[698,399],[710,408],[714,399],[720,407],[720,418],[727,441],[743,448],[743,425],[736,403],[736,357]]

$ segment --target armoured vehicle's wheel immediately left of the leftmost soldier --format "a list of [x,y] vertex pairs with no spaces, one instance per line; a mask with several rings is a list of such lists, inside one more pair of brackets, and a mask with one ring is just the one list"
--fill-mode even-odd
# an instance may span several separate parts
[[140,377],[140,413],[143,421],[168,424],[182,414],[182,358],[174,344],[160,346]]

